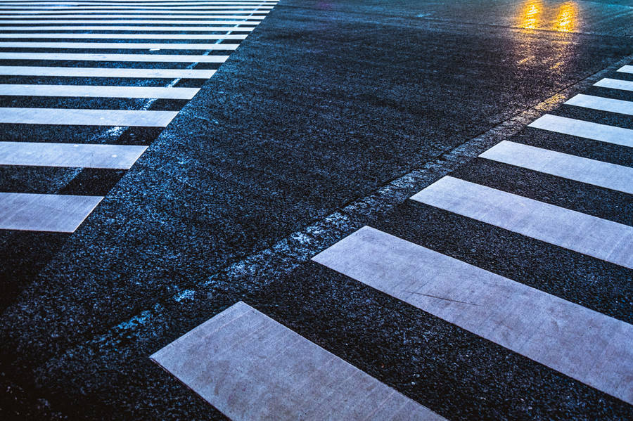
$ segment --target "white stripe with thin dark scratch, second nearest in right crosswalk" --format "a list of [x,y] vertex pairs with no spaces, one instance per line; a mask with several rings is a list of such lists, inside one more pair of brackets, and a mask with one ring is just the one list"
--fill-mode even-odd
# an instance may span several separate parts
[[633,403],[633,325],[370,227],[313,260]]

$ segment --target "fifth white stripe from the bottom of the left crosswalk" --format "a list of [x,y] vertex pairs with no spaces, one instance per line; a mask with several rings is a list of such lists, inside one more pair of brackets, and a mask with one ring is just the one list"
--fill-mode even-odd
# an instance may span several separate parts
[[198,69],[122,69],[120,67],[36,67],[0,66],[5,76],[65,76],[65,77],[139,77],[169,79],[209,79],[215,70]]

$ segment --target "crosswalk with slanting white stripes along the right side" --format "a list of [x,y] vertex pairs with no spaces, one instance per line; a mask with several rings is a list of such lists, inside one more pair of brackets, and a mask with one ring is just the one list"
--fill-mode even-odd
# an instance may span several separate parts
[[[619,71],[632,73],[633,67],[625,66]],[[601,79],[590,94],[574,96],[561,110],[529,124],[529,136],[501,141],[476,161],[482,165],[490,162],[493,167],[505,165],[528,176],[554,177],[550,179],[554,186],[575,183],[575,190],[561,192],[571,197],[582,190],[599,191],[600,195],[591,198],[596,206],[608,195],[630,204],[633,131],[627,116],[633,102],[620,92],[629,91],[630,83],[627,79]],[[587,119],[570,117],[581,109],[589,112]],[[591,121],[592,112],[610,113],[611,124]],[[600,118],[603,117],[602,114]],[[530,136],[540,140],[532,143]],[[557,139],[561,139],[560,147]],[[563,147],[563,141],[573,141],[577,148]],[[551,146],[545,148],[544,144]],[[587,145],[593,148],[593,155],[587,155]],[[620,155],[607,154],[604,160],[598,160],[595,151],[601,146],[611,148],[611,152],[615,147]],[[589,294],[595,281],[591,271],[598,271],[599,265],[607,265],[611,273],[625,273],[624,280],[613,278],[613,283],[628,285],[633,280],[633,226],[627,216],[611,221],[591,212],[569,209],[552,197],[526,197],[520,191],[487,186],[490,181],[468,181],[459,174],[456,171],[455,176],[443,176],[410,197],[405,205],[427,207],[427,215],[437,211],[438,217],[445,212],[452,218],[476,221],[482,231],[505,233],[509,242],[524,238],[532,241],[532,247],[554,250],[548,257],[553,261],[534,261],[535,265],[556,266],[558,256],[574,254],[589,259],[585,278],[577,280],[587,284]],[[504,180],[495,182],[503,185]],[[388,222],[374,221],[386,228],[364,226],[316,254],[312,262],[428,313],[442,323],[471,332],[490,346],[538,363],[549,373],[576,380],[593,390],[597,401],[603,403],[608,396],[615,399],[610,405],[625,406],[625,413],[633,411],[630,303],[625,304],[629,314],[598,311],[591,300],[577,299],[575,294],[561,294],[548,287],[547,279],[542,280],[544,284],[535,285],[520,276],[502,276],[455,257],[461,251],[454,250],[454,240],[442,242],[442,235],[427,247],[415,233],[405,239],[402,231],[398,235],[388,232],[393,224],[410,216],[411,213],[396,210]],[[453,229],[447,226],[448,220],[433,223],[445,226],[448,232]],[[407,221],[407,227],[427,222]],[[407,231],[407,227],[402,230]],[[455,229],[458,232],[454,236],[468,235],[459,232],[461,228]],[[436,247],[441,250],[434,250]],[[302,273],[305,275],[306,271]],[[314,282],[319,279],[314,278]],[[626,300],[627,292],[622,294],[596,300]],[[451,346],[450,342],[445,346]],[[451,418],[437,400],[419,402],[424,406],[412,403],[375,377],[347,365],[243,302],[168,344],[151,358],[232,420]],[[353,387],[350,379],[354,380]],[[338,387],[333,387],[335,384]],[[591,413],[591,403],[582,405],[589,407]],[[407,408],[407,412],[402,408]]]

